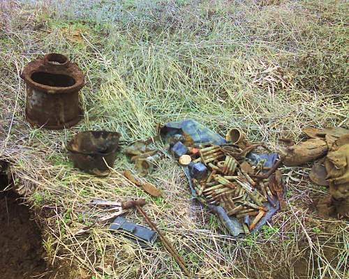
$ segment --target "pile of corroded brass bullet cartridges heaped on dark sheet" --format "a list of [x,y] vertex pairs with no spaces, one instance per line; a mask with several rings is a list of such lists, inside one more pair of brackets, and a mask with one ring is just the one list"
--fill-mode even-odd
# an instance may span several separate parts
[[255,178],[254,170],[248,174],[240,167],[244,159],[236,160],[221,146],[204,146],[198,154],[193,162],[205,164],[208,174],[205,179],[193,179],[197,195],[204,197],[208,204],[222,206],[228,216],[235,216],[242,223],[245,234],[249,234],[268,211],[263,203],[276,206],[269,179]]

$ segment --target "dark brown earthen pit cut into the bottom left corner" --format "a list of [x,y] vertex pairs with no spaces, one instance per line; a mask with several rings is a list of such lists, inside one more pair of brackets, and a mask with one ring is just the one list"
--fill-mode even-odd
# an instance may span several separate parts
[[[8,186],[5,174],[0,175],[0,183],[0,190]],[[28,206],[20,202],[14,191],[0,192],[1,278],[22,279],[45,273],[40,229],[30,220]]]

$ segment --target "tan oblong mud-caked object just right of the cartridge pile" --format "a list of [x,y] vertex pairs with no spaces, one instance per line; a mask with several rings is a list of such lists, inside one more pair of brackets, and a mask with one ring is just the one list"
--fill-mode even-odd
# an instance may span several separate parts
[[283,163],[287,166],[298,166],[325,156],[328,146],[325,140],[311,139],[281,149]]

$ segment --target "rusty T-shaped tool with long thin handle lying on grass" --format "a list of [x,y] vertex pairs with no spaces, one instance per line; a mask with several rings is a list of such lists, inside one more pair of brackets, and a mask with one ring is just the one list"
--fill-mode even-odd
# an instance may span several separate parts
[[154,229],[154,231],[158,233],[158,237],[160,238],[161,243],[163,243],[163,246],[166,248],[166,250],[168,250],[168,252],[170,252],[172,257],[174,257],[177,264],[181,267],[181,269],[184,271],[184,273],[186,273],[186,276],[191,277],[191,273],[188,271],[188,269],[186,269],[186,263],[184,262],[184,259],[182,259],[181,256],[178,255],[178,252],[174,249],[172,244],[160,232],[160,230],[156,227],[156,225],[153,222],[151,222],[151,220],[147,216],[147,213],[145,213],[143,211],[142,206],[144,206],[144,204],[145,204],[145,199],[136,199],[136,200],[129,201],[129,202],[122,202],[121,208],[122,209],[131,209],[131,208],[135,207],[135,209],[137,209],[137,211],[140,214],[142,214],[144,220],[147,222],[149,227],[151,227],[151,229]]

